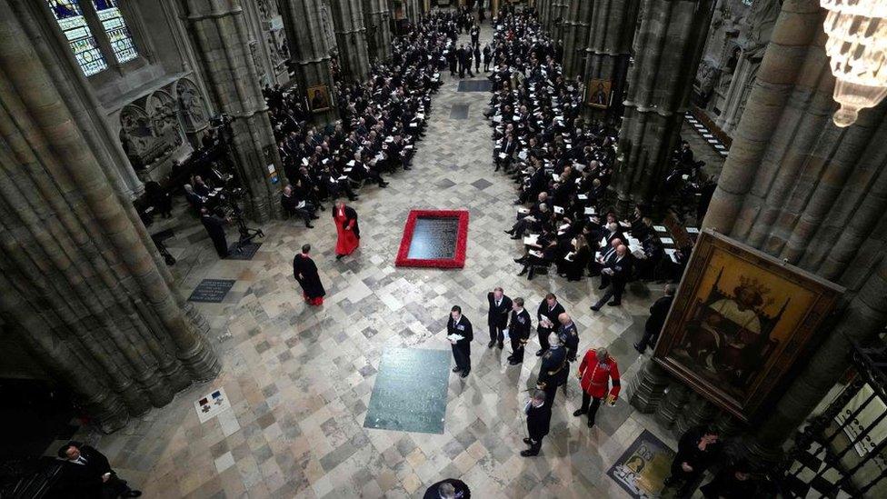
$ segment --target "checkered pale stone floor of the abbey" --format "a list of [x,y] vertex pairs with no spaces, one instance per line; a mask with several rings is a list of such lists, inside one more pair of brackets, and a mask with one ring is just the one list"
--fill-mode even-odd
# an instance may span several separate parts
[[[483,26],[484,38],[489,30]],[[581,352],[609,345],[627,386],[640,364],[631,344],[660,292],[633,286],[622,307],[593,314],[596,279],[517,277],[512,258],[521,247],[502,232],[513,222],[514,187],[493,173],[490,127],[481,114],[490,95],[457,93],[457,80],[447,71],[443,77],[414,170],[392,175],[387,189],[364,188],[353,204],[363,236],[354,255],[334,260],[329,205],[314,229],[292,220],[264,225],[266,237],[251,261],[219,261],[202,227],[180,216],[187,225],[177,226],[168,242],[179,260],[173,270],[180,293],[190,294],[204,278],[237,280],[221,304],[194,304],[213,326],[224,369],[115,434],[84,430],[75,438],[108,454],[147,497],[415,497],[443,477],[461,478],[483,498],[626,497],[607,468],[643,428],[674,446],[671,435],[624,400],[603,407],[599,424],[587,428],[572,415],[581,400],[573,377],[569,393],[558,394],[542,454],[521,457],[520,409],[538,372],[532,354],[538,344],[533,338],[519,367],[505,361],[507,348],[487,349],[485,296],[502,285],[534,311],[554,292],[579,326]],[[451,119],[453,104],[470,105],[469,119]],[[470,210],[463,269],[394,267],[414,208]],[[304,243],[314,246],[326,286],[321,308],[303,303],[293,279],[293,256]],[[444,433],[364,428],[384,348],[449,349],[443,329],[453,304],[462,305],[477,338],[472,374],[450,377]],[[218,386],[233,408],[200,424],[194,400]]]

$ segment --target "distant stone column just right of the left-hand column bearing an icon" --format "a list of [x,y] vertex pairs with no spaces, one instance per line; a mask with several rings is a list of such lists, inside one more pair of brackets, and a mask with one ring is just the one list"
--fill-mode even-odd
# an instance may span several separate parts
[[335,43],[339,49],[339,67],[350,81],[363,82],[370,74],[370,55],[366,50],[364,6],[361,0],[330,2]]

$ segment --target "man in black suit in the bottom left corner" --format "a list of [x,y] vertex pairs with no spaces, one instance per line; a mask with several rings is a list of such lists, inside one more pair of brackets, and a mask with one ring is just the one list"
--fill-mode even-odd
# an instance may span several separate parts
[[112,499],[142,495],[118,478],[105,455],[89,445],[68,442],[58,450],[58,457],[65,460],[60,484],[68,497]]

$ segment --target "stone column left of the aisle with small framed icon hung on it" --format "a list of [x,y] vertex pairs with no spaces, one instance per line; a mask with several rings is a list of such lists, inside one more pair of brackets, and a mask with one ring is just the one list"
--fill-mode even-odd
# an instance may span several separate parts
[[[323,0],[286,0],[282,5],[286,39],[290,44],[290,60],[295,65],[296,79],[301,91],[315,85],[324,85],[333,95],[333,74],[330,72],[330,54],[333,50],[330,36],[325,30],[332,31],[331,22],[327,17],[329,11]],[[334,38],[333,38],[334,40]],[[307,94],[304,94],[307,99]],[[328,110],[315,113],[318,123],[334,121],[338,112],[335,103]]]

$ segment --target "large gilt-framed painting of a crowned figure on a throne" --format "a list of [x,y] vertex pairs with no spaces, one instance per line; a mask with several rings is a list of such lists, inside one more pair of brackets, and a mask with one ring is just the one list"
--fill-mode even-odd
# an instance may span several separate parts
[[843,288],[706,230],[654,358],[749,421],[838,303]]

